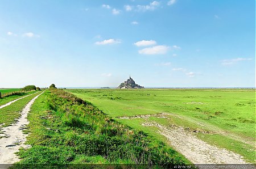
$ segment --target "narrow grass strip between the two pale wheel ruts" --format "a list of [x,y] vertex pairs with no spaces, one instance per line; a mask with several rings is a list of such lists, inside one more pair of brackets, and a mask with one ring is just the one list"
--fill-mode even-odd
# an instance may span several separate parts
[[20,117],[20,111],[25,107],[25,105],[30,102],[39,93],[32,94],[26,98],[20,99],[13,104],[10,104],[2,109],[0,109],[0,124],[1,126],[9,126],[15,122],[16,119]]

